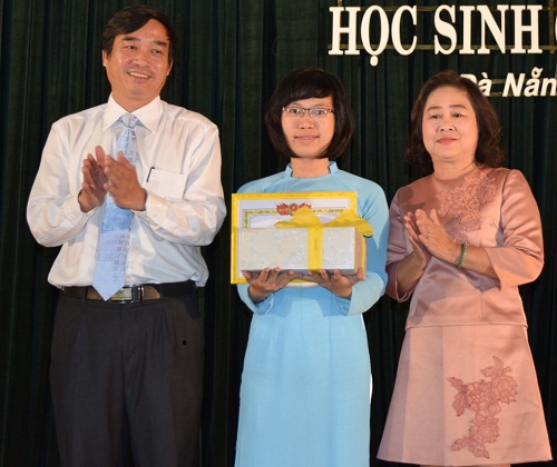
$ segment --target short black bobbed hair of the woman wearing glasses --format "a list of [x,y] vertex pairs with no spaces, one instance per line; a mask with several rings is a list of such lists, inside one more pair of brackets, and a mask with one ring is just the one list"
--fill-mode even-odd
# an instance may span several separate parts
[[328,71],[301,68],[287,74],[276,87],[265,110],[268,138],[276,152],[286,158],[297,157],[290,148],[282,129],[282,109],[302,99],[331,97],[334,109],[334,135],[321,155],[335,160],[344,153],[354,132],[355,122],[341,80]]

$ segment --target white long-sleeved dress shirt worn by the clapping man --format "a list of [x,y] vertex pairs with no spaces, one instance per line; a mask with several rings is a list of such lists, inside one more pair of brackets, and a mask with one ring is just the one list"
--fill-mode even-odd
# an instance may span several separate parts
[[[91,285],[105,205],[81,212],[82,163],[96,146],[116,157],[124,113],[110,96],[52,125],[27,219],[39,244],[62,246],[48,278],[56,287]],[[208,271],[201,247],[213,241],[226,215],[218,129],[159,97],[133,113],[140,121],[136,170],[147,200],[145,211],[134,211],[126,284],[192,279],[204,286]]]

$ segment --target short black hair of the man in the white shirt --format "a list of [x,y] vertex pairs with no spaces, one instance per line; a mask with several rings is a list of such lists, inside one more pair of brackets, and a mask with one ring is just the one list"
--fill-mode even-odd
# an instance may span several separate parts
[[118,11],[102,29],[101,48],[107,56],[113,52],[116,36],[129,34],[141,29],[149,20],[158,21],[166,29],[168,36],[168,63],[174,62],[178,33],[168,17],[162,11],[147,4],[135,4]]

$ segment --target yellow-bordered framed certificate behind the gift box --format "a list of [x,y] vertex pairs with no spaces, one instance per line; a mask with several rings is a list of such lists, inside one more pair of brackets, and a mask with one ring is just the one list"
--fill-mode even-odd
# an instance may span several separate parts
[[[342,210],[356,211],[355,191],[310,191],[287,193],[233,193],[231,282],[245,284],[240,269],[242,229],[268,229],[290,220],[300,208],[309,207],[322,222],[336,218]],[[272,246],[270,246],[272,248]]]

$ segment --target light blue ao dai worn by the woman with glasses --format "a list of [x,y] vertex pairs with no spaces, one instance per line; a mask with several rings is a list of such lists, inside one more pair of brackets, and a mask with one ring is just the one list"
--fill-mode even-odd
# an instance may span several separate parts
[[[374,182],[330,165],[330,175],[284,172],[241,192],[356,191],[367,238],[367,277],[351,299],[323,287],[287,287],[253,304],[242,375],[237,467],[369,467],[371,367],[362,314],[383,295],[389,211]],[[274,267],[274,265],[268,265]]]

